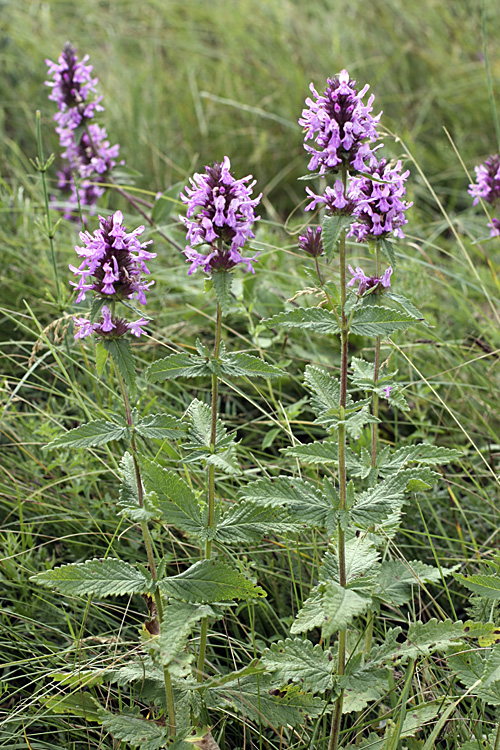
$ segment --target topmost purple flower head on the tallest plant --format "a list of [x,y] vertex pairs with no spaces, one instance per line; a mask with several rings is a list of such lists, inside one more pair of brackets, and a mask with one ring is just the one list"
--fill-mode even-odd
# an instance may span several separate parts
[[311,83],[310,90],[315,97],[306,99],[308,109],[302,110],[299,125],[305,131],[305,141],[314,139],[316,148],[304,143],[311,155],[308,168],[319,170],[324,175],[327,170],[338,171],[341,164],[350,164],[358,171],[365,170],[365,162],[373,158],[368,141],[378,138],[377,123],[382,113],[373,117],[373,95],[363,104],[362,99],[369,86],[359,93],[356,81],[349,78],[347,70],[342,70],[334,78],[327,79],[323,94],[318,94]]

